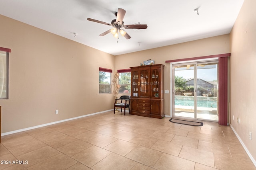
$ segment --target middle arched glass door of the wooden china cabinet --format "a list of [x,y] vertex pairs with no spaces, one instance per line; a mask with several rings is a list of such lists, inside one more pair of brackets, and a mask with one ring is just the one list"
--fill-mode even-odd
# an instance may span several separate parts
[[140,93],[139,97],[149,97],[149,70],[140,70]]

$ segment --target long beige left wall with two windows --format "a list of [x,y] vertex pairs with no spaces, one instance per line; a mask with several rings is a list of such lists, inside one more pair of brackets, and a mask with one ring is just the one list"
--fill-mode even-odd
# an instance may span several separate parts
[[1,15],[0,21],[0,47],[12,49],[2,133],[113,108],[114,96],[98,93],[99,67],[114,70],[113,55]]

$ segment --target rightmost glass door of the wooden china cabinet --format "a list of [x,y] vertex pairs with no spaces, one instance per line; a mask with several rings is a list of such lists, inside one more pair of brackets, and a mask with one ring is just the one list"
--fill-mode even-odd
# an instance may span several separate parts
[[153,69],[151,71],[151,82],[150,82],[150,86],[151,86],[151,98],[159,98],[159,90],[160,90],[160,86],[159,86],[159,71],[157,69]]

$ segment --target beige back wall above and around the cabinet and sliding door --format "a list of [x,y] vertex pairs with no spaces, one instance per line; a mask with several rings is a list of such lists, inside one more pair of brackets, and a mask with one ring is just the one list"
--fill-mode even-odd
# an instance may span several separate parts
[[[143,43],[141,45],[143,45]],[[229,34],[118,55],[115,57],[115,68],[125,69],[131,66],[139,66],[140,63],[143,63],[143,61],[147,59],[154,60],[155,64],[162,63],[165,65],[164,90],[171,92],[170,63],[165,63],[165,61],[224,53],[230,53]],[[170,110],[170,94],[164,94],[164,114],[170,115]]]

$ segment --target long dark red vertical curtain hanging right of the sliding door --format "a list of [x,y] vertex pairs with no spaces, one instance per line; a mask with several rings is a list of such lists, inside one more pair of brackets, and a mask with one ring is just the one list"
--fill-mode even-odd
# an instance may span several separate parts
[[228,57],[219,58],[219,125],[228,124]]

